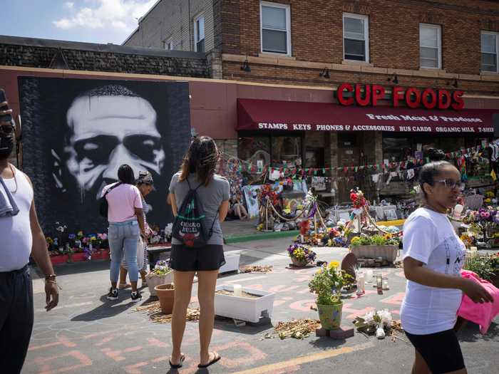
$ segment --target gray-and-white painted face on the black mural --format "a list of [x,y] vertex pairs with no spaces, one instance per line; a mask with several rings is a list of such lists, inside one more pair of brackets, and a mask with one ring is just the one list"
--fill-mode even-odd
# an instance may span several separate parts
[[[78,183],[81,199],[98,198],[102,188],[117,180],[120,165],[130,165],[135,175],[148,170],[158,178],[165,164],[165,150],[156,127],[156,111],[150,103],[133,95],[102,95],[102,92],[127,93],[105,86],[76,98],[68,109],[66,123],[70,135],[61,157],[63,165]],[[56,184],[63,185],[58,175]]]

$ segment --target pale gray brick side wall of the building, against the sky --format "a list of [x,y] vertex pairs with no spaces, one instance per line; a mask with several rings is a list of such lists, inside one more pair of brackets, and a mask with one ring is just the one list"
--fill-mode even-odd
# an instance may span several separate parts
[[214,48],[214,12],[212,0],[163,0],[140,20],[138,29],[126,40],[125,46],[165,48],[173,41],[175,50],[194,51],[193,22],[205,17],[205,51]]

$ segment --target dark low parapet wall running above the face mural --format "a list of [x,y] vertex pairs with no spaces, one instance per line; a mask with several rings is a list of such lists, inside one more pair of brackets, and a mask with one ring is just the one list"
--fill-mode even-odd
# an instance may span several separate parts
[[[55,57],[56,61],[53,61]],[[0,37],[0,66],[209,78],[204,53]]]

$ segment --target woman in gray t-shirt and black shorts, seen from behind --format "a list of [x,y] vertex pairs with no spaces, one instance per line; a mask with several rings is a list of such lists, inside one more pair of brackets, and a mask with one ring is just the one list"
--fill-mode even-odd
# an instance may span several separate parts
[[191,186],[197,188],[205,213],[205,223],[213,227],[213,234],[201,248],[184,246],[177,239],[172,241],[170,266],[175,270],[175,303],[172,316],[173,350],[170,366],[180,368],[185,356],[180,351],[185,330],[185,314],[190,303],[192,281],[197,273],[197,298],[200,303],[200,368],[220,360],[220,355],[210,352],[210,341],[215,321],[215,286],[218,269],[225,264],[223,251],[223,222],[229,209],[230,185],[225,178],[215,175],[220,152],[211,137],[197,137],[192,141],[182,162],[182,170],[173,175],[170,183],[170,201],[173,215],[177,216]]

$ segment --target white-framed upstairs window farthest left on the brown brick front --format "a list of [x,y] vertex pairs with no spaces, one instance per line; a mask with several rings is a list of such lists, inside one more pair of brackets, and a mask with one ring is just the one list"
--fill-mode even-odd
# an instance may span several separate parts
[[260,3],[262,52],[291,56],[291,15],[289,5]]

